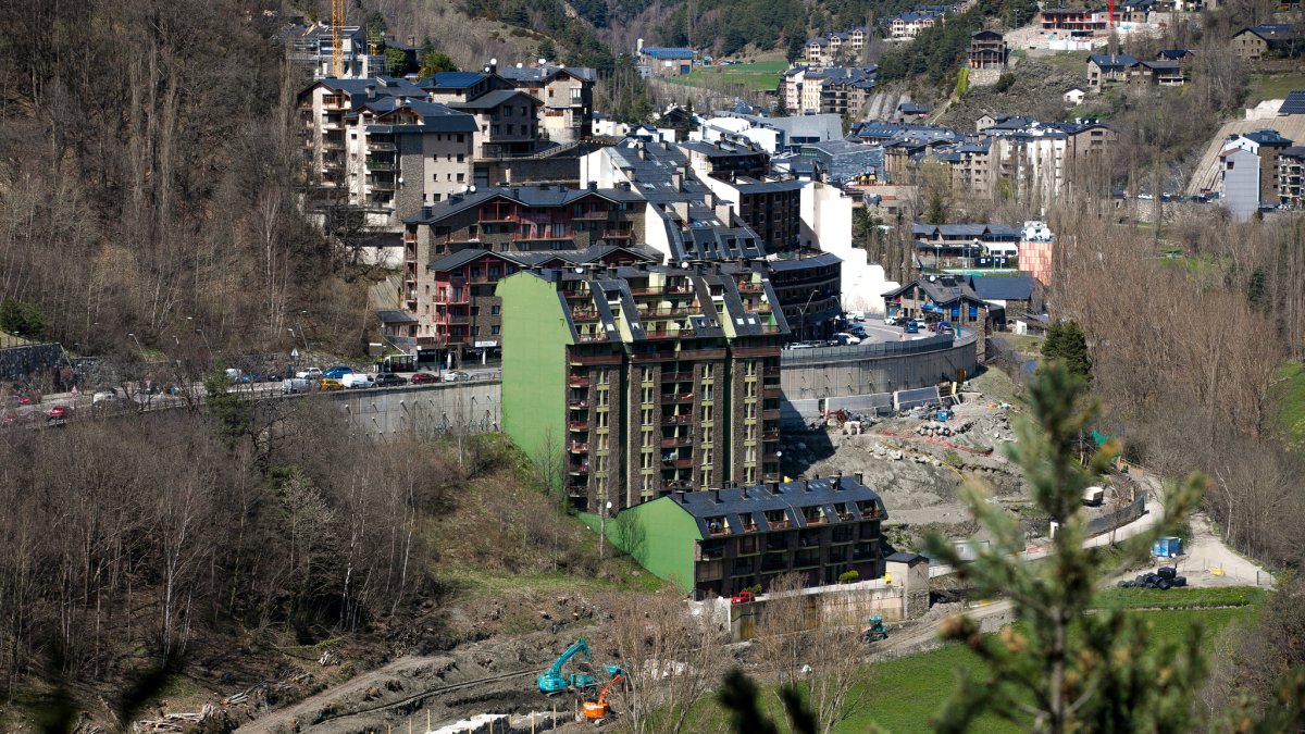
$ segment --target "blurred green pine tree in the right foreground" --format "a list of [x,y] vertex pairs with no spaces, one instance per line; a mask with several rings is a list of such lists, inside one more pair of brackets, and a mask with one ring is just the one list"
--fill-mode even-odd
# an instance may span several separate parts
[[[937,730],[966,731],[984,713],[1036,731],[1190,731],[1193,694],[1206,667],[1201,631],[1181,643],[1148,644],[1146,618],[1122,611],[1087,614],[1098,582],[1117,568],[1083,547],[1083,490],[1118,452],[1108,441],[1087,468],[1075,440],[1096,418],[1083,380],[1060,360],[1045,364],[1030,385],[1031,418],[1022,422],[1007,455],[1024,473],[1034,505],[1056,524],[1052,555],[1024,563],[1018,522],[988,503],[977,481],[962,492],[992,546],[962,563],[957,550],[933,535],[928,552],[955,564],[963,584],[979,594],[1002,594],[1015,603],[1018,623],[985,636],[967,616],[942,626],[942,635],[964,641],[987,665],[981,680],[963,677],[955,697],[940,713]],[[1124,543],[1128,562],[1147,558],[1155,538],[1173,533],[1195,507],[1205,479],[1193,475],[1165,496],[1160,521]]]

